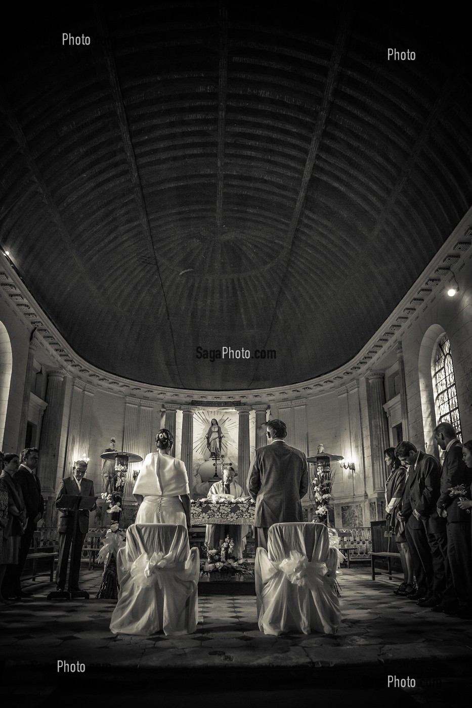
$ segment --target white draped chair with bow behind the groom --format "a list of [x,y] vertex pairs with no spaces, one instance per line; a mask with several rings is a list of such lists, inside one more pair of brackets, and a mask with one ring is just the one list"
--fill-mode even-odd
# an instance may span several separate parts
[[335,634],[341,622],[335,590],[337,550],[324,524],[274,524],[268,550],[254,563],[257,615],[264,634]]

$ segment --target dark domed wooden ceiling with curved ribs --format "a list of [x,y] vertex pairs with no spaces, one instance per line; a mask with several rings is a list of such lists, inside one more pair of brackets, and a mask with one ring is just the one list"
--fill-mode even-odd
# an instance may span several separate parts
[[4,25],[1,246],[91,364],[220,390],[334,370],[470,207],[459,16],[452,41],[415,4],[304,8],[97,4]]

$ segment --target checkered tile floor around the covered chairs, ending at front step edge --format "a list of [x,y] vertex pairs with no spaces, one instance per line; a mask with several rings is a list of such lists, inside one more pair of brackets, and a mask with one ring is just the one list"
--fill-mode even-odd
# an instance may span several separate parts
[[472,622],[437,615],[393,595],[386,575],[373,582],[367,568],[344,570],[339,583],[342,624],[335,636],[266,636],[257,625],[254,596],[213,595],[198,600],[195,634],[166,637],[113,635],[115,603],[96,600],[101,569],[84,564],[82,589],[90,600],[47,601],[46,576],[25,583],[30,596],[1,607],[0,647],[6,667],[28,662],[86,661],[115,667],[362,666],[392,661],[472,659]]

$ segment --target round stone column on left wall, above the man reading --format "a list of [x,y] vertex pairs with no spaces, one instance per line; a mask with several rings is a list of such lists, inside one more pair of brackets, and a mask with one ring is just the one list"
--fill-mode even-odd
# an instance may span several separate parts
[[41,430],[38,464],[41,491],[45,494],[52,494],[55,491],[62,413],[64,411],[63,379],[64,371],[62,369],[47,372],[47,409],[44,414],[43,430]]

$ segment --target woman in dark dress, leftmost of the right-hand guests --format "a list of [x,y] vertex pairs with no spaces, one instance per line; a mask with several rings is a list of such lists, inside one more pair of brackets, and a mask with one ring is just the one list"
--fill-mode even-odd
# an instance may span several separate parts
[[398,544],[400,551],[400,561],[403,568],[403,583],[393,590],[395,595],[412,595],[415,593],[415,573],[413,562],[405,536],[405,523],[397,518],[397,511],[400,509],[403,492],[405,491],[406,469],[395,455],[394,447],[387,447],[383,450],[387,467],[390,467],[390,474],[385,485],[386,517],[390,522],[392,535]]

